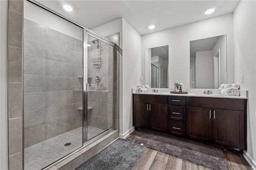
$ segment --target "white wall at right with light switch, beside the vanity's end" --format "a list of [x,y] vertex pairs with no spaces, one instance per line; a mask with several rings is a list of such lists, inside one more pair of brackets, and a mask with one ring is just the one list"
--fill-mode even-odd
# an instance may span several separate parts
[[[248,90],[246,159],[256,169],[256,2],[240,1],[234,11],[235,83]],[[240,82],[244,74],[244,83]],[[254,162],[253,162],[254,161]]]

